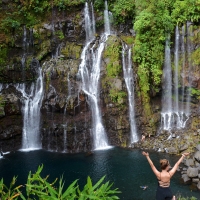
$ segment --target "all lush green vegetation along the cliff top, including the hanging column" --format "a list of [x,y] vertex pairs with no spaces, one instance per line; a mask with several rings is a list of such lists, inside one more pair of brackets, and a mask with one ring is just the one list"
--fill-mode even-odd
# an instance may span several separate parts
[[[89,0],[88,0],[89,1]],[[99,16],[103,15],[105,0],[90,0]],[[34,36],[39,38],[38,24],[51,20],[53,9],[57,11],[72,9],[72,6],[83,5],[85,0],[13,0],[5,5],[0,2],[0,65],[5,65],[8,49],[22,34],[22,28],[34,27]],[[182,26],[186,21],[198,25],[200,20],[200,0],[109,0],[109,10],[113,13],[115,24],[132,22],[134,31],[134,62],[139,79],[138,94],[141,95],[147,114],[149,95],[156,94],[161,89],[162,67],[164,62],[164,46],[167,34],[174,32],[175,26]],[[80,16],[77,16],[80,17]],[[103,17],[102,17],[103,19]],[[100,22],[98,22],[102,25]],[[17,33],[17,34],[16,34]],[[61,30],[56,32],[60,40],[64,39]],[[197,29],[195,38],[199,42]],[[173,44],[172,44],[173,45]],[[199,48],[192,56],[192,62],[198,66]],[[108,71],[118,73],[119,67],[110,66]],[[116,67],[116,68],[115,68]]]

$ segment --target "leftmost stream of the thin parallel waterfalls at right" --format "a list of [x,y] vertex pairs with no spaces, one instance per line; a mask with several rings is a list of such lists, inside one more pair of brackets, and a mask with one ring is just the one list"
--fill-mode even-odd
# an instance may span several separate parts
[[165,44],[165,62],[163,69],[163,94],[162,94],[162,112],[161,123],[164,130],[171,128],[172,121],[172,71],[171,71],[171,55],[170,55],[170,36],[166,39]]

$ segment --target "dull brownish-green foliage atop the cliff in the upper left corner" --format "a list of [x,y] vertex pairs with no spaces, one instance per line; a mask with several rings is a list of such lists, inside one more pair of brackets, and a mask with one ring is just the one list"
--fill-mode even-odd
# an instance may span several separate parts
[[[27,28],[42,22],[49,11],[57,7],[70,9],[71,6],[81,5],[85,0],[15,0],[8,5],[8,11],[1,20],[1,30],[11,33],[23,24]],[[16,8],[16,9],[14,9]]]

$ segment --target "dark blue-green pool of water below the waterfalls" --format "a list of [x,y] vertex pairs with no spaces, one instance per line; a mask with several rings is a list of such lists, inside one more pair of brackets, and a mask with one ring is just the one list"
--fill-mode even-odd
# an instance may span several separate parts
[[[150,157],[159,169],[159,159],[167,158],[173,165],[179,157],[163,153],[150,153]],[[38,165],[44,164],[43,174],[50,174],[53,180],[64,175],[66,186],[75,179],[79,185],[86,183],[90,176],[93,183],[106,175],[106,181],[114,183],[114,188],[122,192],[120,199],[124,200],[154,200],[157,180],[150,169],[141,150],[112,148],[109,150],[95,151],[93,154],[64,154],[47,152],[44,150],[30,152],[12,152],[0,159],[0,177],[10,183],[14,175],[18,176],[18,184],[26,183],[29,171],[35,172]],[[147,190],[140,186],[148,185]],[[195,196],[200,199],[199,191],[191,191],[189,185],[181,183],[181,174],[177,172],[171,180],[174,194],[182,196]]]

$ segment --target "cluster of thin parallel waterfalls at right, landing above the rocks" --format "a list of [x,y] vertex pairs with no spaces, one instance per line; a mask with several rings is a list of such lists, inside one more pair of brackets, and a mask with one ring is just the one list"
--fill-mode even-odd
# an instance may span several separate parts
[[[184,106],[184,78],[185,78],[185,44],[184,36],[185,29],[182,28],[182,36],[180,38],[180,32],[178,26],[175,30],[175,46],[174,46],[174,101],[172,104],[172,70],[171,70],[171,58],[170,58],[170,46],[169,38],[166,40],[165,46],[165,64],[163,70],[163,98],[162,98],[162,113],[161,122],[164,130],[171,130],[172,128],[184,128],[189,117],[188,108]],[[181,42],[180,43],[180,39]],[[181,49],[181,51],[180,51]],[[189,50],[188,50],[189,51]],[[179,76],[179,54],[182,53],[182,76]],[[189,73],[189,72],[188,72]],[[182,77],[183,80],[180,79]],[[182,99],[179,98],[179,85],[182,84]],[[187,92],[187,105],[190,105],[190,94]],[[181,101],[182,100],[182,101]]]

